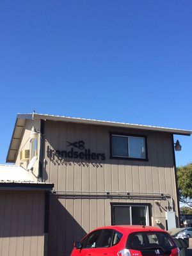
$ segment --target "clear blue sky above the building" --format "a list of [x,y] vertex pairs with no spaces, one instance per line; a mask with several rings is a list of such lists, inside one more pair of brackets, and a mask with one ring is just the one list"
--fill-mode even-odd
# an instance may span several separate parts
[[192,130],[192,1],[6,0],[0,36],[2,164],[33,109]]

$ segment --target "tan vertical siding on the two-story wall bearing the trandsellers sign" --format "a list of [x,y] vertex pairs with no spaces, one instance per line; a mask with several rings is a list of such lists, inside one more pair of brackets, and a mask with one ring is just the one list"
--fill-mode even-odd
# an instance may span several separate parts
[[[148,161],[110,159],[109,132],[147,136]],[[57,159],[50,161],[47,147],[70,150],[67,141],[83,140],[85,148],[104,153],[104,161]],[[173,195],[177,213],[177,197],[173,159],[172,134],[136,131],[97,125],[81,125],[45,121],[45,173],[47,182],[56,191],[121,191],[129,193],[169,193]],[[68,255],[72,242],[93,228],[111,225],[111,202],[149,203],[152,216],[165,226],[166,201],[120,198],[67,198],[51,195],[49,221],[49,256]],[[170,205],[169,205],[170,206]]]

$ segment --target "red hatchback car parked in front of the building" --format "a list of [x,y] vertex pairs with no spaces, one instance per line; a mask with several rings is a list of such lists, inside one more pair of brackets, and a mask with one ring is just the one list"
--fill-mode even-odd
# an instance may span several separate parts
[[71,256],[179,256],[168,232],[148,226],[100,227],[74,243]]

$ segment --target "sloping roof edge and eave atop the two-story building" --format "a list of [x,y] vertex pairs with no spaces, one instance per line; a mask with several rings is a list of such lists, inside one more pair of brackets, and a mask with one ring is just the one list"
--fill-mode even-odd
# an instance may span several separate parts
[[45,115],[45,114],[37,114],[37,113],[17,114],[17,120],[15,123],[15,128],[13,130],[13,136],[10,143],[10,148],[8,150],[8,155],[6,157],[7,163],[15,162],[15,154],[19,148],[19,143],[22,138],[22,133],[24,131],[24,127],[27,119],[31,119],[31,120],[42,119],[42,120],[52,120],[52,121],[60,121],[60,122],[72,122],[76,124],[102,125],[102,126],[108,126],[108,127],[122,127],[127,129],[138,129],[138,130],[145,130],[145,131],[170,132],[172,134],[180,134],[180,135],[187,135],[187,136],[190,136],[192,132],[184,129],[158,127],[158,126],[152,126],[152,125],[127,124],[127,123],[93,120],[93,119],[85,119],[85,118],[74,118],[74,117],[68,117],[68,116]]

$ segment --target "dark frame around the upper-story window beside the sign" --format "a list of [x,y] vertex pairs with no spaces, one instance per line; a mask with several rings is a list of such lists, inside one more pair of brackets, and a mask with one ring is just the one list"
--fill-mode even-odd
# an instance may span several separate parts
[[[136,158],[136,157],[121,157],[121,156],[113,156],[112,153],[112,136],[125,136],[125,137],[137,137],[137,138],[143,138],[145,141],[145,158]],[[122,159],[122,160],[136,160],[136,161],[148,161],[148,151],[147,151],[147,136],[146,135],[140,135],[140,134],[127,134],[122,132],[109,132],[110,137],[110,159]]]

